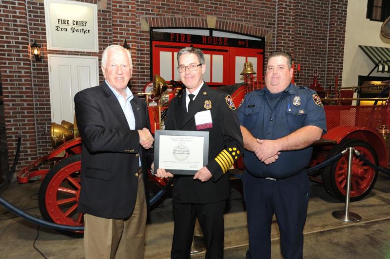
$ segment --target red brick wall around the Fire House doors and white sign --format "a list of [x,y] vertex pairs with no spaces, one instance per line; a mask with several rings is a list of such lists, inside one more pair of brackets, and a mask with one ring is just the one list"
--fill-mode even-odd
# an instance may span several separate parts
[[[101,56],[106,46],[122,45],[126,39],[136,64],[131,85],[139,92],[152,76],[150,27],[212,27],[265,37],[266,54],[274,49],[292,52],[301,64],[298,85],[311,85],[314,68],[319,69],[322,85],[333,84],[336,73],[341,76],[348,0],[80,1],[98,4],[98,54],[48,51],[43,0],[0,0],[0,72],[8,150],[12,162],[21,132],[20,166],[51,150],[47,54]],[[43,52],[41,62],[30,53],[34,39]]]

